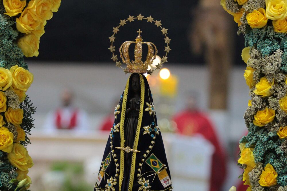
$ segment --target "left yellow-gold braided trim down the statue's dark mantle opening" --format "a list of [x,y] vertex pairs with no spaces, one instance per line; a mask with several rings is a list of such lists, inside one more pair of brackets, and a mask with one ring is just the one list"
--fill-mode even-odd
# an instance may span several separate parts
[[[125,87],[123,96],[122,111],[121,111],[121,122],[120,122],[120,135],[121,135],[121,147],[125,147],[125,134],[124,134],[124,123],[125,123],[125,110],[127,105],[127,94],[129,92],[129,79]],[[125,165],[125,151],[121,150],[120,157],[120,175],[119,175],[119,191],[121,191],[122,182],[124,178],[124,165]]]

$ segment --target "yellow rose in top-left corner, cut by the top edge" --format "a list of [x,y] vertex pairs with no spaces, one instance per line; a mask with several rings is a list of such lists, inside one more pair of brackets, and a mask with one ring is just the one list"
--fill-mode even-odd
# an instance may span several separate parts
[[14,17],[19,13],[22,13],[24,7],[26,6],[26,0],[3,0],[3,5],[6,11],[4,14]]

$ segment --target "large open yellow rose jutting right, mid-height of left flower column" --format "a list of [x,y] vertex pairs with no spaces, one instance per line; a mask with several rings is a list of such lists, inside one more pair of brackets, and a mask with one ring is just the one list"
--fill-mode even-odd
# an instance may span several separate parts
[[33,74],[18,65],[12,66],[10,72],[13,78],[12,87],[27,91],[34,80]]

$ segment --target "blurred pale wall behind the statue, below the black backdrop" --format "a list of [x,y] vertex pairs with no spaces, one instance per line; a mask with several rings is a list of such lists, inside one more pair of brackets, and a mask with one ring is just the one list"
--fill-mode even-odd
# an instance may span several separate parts
[[[46,113],[60,105],[59,96],[65,87],[74,90],[75,105],[89,113],[92,128],[97,128],[103,116],[113,113],[114,101],[120,99],[129,76],[112,63],[28,64],[30,71],[34,74],[34,82],[27,94],[37,107],[37,113],[34,115],[37,128],[42,127]],[[200,94],[199,107],[208,111],[210,79],[206,67],[177,64],[166,64],[166,67],[179,79],[179,93],[175,109],[178,111],[183,108],[185,93],[195,90]],[[210,113],[217,128],[225,132],[225,136],[222,137],[224,139],[239,139],[238,137],[241,137],[246,130],[243,114],[247,108],[249,88],[245,84],[243,69],[244,66],[231,70],[227,113],[219,115],[221,111]],[[225,125],[220,117],[222,115],[226,117]],[[226,126],[226,129],[223,126]]]

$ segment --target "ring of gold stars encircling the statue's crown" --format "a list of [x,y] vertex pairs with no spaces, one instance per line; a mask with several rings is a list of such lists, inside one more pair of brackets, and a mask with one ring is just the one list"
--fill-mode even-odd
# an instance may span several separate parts
[[[137,20],[134,20],[134,19],[137,19]],[[116,50],[116,48],[115,48],[115,46],[113,46],[113,43],[115,42],[115,34],[117,34],[117,32],[119,31],[119,28],[121,27],[121,26],[124,26],[125,24],[127,24],[126,22],[127,21],[129,21],[128,23],[131,23],[131,22],[133,22],[133,21],[143,21],[143,19],[144,20],[147,20],[147,22],[150,22],[150,23],[152,23],[152,22],[154,22],[154,24],[157,26],[157,27],[160,27],[160,31],[162,31],[162,34],[164,35],[164,40],[165,40],[165,42],[164,43],[166,43],[166,47],[165,47],[165,50],[164,50],[164,52],[166,52],[166,54],[165,54],[165,56],[163,56],[163,58],[161,59],[162,60],[162,63],[158,63],[158,65],[156,66],[156,69],[154,69],[154,70],[157,70],[157,69],[160,69],[161,68],[161,66],[162,66],[162,64],[164,63],[164,62],[167,62],[167,54],[168,54],[168,52],[171,50],[170,48],[169,48],[169,44],[170,44],[170,38],[168,38],[168,36],[167,36],[167,30],[168,29],[166,29],[166,28],[164,28],[164,27],[162,27],[162,24],[160,23],[161,21],[158,21],[158,20],[154,20],[154,18],[152,18],[152,16],[150,15],[149,17],[144,17],[143,15],[141,15],[141,14],[139,14],[139,15],[137,15],[137,16],[130,16],[129,15],[129,18],[127,18],[127,19],[124,19],[124,20],[121,20],[121,22],[119,23],[119,26],[117,26],[117,27],[113,27],[113,35],[111,36],[111,37],[109,37],[109,39],[110,39],[110,42],[111,42],[111,46],[110,46],[110,48],[108,48],[109,50],[110,50],[110,52],[112,52],[112,54],[113,54],[113,56],[112,56],[112,60],[114,61],[114,62],[116,62],[116,66],[117,67],[119,67],[119,68],[122,68],[123,70],[124,70],[124,72],[127,74],[127,73],[129,73],[128,72],[128,70],[127,70],[127,68],[123,68],[122,67],[122,63],[121,63],[121,61],[118,61],[118,58],[117,58],[117,55],[115,55],[115,50]],[[148,70],[146,73],[148,73],[148,74],[151,74],[154,70]]]

